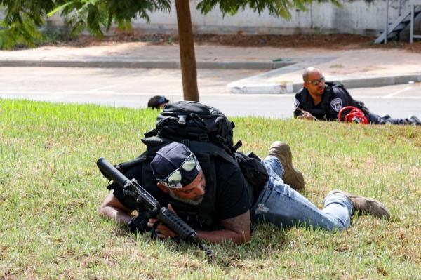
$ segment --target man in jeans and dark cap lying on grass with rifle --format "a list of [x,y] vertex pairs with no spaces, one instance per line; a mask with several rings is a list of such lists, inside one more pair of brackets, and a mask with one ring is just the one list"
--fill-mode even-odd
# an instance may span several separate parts
[[[288,154],[289,153],[289,154]],[[306,226],[322,229],[346,229],[356,212],[389,218],[389,211],[379,201],[354,196],[339,190],[328,193],[320,210],[283,181],[304,187],[301,173],[293,168],[290,148],[274,142],[269,155],[262,161],[269,179],[259,193],[243,176],[238,165],[220,159],[214,166],[201,166],[185,145],[173,142],[156,152],[154,159],[142,168],[152,170],[153,182],[144,185],[161,205],[168,205],[180,218],[196,229],[201,239],[211,242],[231,240],[241,244],[250,240],[250,221],[272,222],[279,227]],[[215,168],[215,178],[202,168]],[[99,212],[107,218],[127,224],[132,231],[145,231],[142,215],[133,217],[133,196],[126,195],[118,185],[112,187]],[[156,220],[147,220],[152,227]],[[171,229],[159,224],[156,232],[161,239],[175,236]]]

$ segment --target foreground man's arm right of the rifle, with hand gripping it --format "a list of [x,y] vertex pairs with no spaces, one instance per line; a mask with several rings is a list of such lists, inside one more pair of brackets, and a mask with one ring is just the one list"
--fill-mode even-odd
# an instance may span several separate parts
[[[148,226],[154,225],[155,219],[149,219]],[[234,244],[241,244],[250,241],[250,211],[238,215],[234,218],[229,218],[221,221],[224,229],[209,231],[197,231],[199,238],[213,243],[220,243],[231,240]],[[175,236],[165,225],[159,224],[156,227],[158,237],[166,239]]]

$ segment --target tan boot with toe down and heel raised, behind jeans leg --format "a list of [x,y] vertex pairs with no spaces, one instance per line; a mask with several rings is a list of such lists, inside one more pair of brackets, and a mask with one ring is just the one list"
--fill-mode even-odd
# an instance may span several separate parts
[[302,173],[293,166],[293,154],[288,144],[280,141],[273,142],[269,147],[269,156],[276,156],[283,166],[283,182],[286,182],[296,191],[302,191],[305,188]]

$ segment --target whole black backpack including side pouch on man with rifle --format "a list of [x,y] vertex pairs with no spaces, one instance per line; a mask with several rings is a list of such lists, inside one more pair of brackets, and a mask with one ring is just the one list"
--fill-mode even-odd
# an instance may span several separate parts
[[[243,154],[236,152],[241,147],[241,141],[233,145],[234,122],[215,107],[203,105],[194,101],[178,101],[169,103],[156,118],[156,128],[145,133],[142,142],[148,149],[156,152],[156,147],[162,147],[168,140],[183,142],[189,147],[189,141],[210,142],[222,147],[227,156],[232,157],[241,168],[244,178],[259,194],[269,178],[265,166],[253,152]],[[154,137],[156,136],[156,137]]]

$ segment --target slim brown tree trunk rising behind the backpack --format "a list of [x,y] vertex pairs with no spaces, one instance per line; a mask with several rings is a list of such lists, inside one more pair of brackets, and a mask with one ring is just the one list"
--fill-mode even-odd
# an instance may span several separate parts
[[189,0],[175,0],[175,8],[177,10],[182,90],[184,93],[184,99],[189,101],[199,101],[196,58],[194,56],[192,18],[190,15]]

